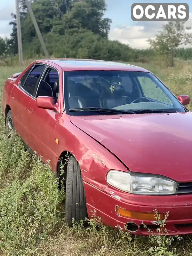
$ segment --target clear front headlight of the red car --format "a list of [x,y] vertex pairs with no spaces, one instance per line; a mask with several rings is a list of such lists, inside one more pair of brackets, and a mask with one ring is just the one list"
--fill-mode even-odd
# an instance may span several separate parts
[[137,195],[174,195],[178,183],[153,174],[128,173],[111,170],[107,182],[122,191]]

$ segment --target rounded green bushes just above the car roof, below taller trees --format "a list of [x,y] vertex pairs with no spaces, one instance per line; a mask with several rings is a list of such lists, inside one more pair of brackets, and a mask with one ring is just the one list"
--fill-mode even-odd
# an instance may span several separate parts
[[[89,30],[69,30],[65,35],[47,33],[44,41],[50,55],[55,58],[82,58],[96,60],[121,60],[148,62],[152,56],[150,50],[132,49],[126,44],[118,41],[111,41],[94,34]],[[44,55],[38,38],[32,43],[24,44],[24,55],[26,58],[33,58],[36,55]]]

